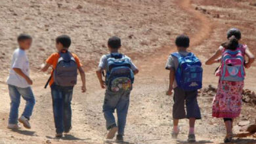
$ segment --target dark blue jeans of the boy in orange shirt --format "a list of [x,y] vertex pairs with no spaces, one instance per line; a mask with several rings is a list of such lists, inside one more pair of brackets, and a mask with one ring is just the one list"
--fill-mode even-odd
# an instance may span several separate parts
[[71,101],[74,86],[51,86],[53,98],[53,115],[56,133],[67,132],[71,128],[72,109]]

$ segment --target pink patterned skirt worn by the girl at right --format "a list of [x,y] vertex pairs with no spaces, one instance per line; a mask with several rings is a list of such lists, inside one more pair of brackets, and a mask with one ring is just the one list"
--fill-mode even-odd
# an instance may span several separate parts
[[213,117],[239,117],[242,107],[244,81],[219,81],[217,94],[213,99]]

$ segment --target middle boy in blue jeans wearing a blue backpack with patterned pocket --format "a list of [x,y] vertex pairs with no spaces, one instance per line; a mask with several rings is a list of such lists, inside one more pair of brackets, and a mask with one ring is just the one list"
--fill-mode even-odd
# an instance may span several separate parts
[[[128,56],[118,52],[121,48],[119,37],[110,37],[108,48],[110,54],[100,58],[96,71],[101,88],[106,88],[103,105],[106,128],[109,130],[106,138],[113,139],[118,131],[116,140],[123,141],[134,75],[139,73],[139,70]],[[106,81],[102,79],[104,70],[106,70]],[[117,111],[117,124],[113,115],[115,109]]]

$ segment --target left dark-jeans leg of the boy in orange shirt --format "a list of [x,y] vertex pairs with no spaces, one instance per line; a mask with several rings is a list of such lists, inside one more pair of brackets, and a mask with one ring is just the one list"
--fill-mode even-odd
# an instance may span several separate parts
[[51,86],[51,94],[53,98],[53,115],[56,134],[63,133],[63,98],[62,91],[56,86]]

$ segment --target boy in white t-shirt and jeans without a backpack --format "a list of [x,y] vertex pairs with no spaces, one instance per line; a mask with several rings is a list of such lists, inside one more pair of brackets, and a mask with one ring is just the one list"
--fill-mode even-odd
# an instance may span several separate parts
[[[11,98],[11,109],[9,114],[9,129],[20,129],[18,121],[23,124],[25,128],[30,129],[30,117],[32,116],[33,106],[35,105],[35,98],[33,96],[33,84],[30,79],[30,63],[26,55],[26,50],[30,49],[32,45],[32,37],[26,34],[18,36],[18,48],[14,50],[12,55],[12,63],[7,84],[9,88],[9,95]],[[18,118],[18,107],[20,106],[20,96],[26,100],[26,106],[22,116]]]

